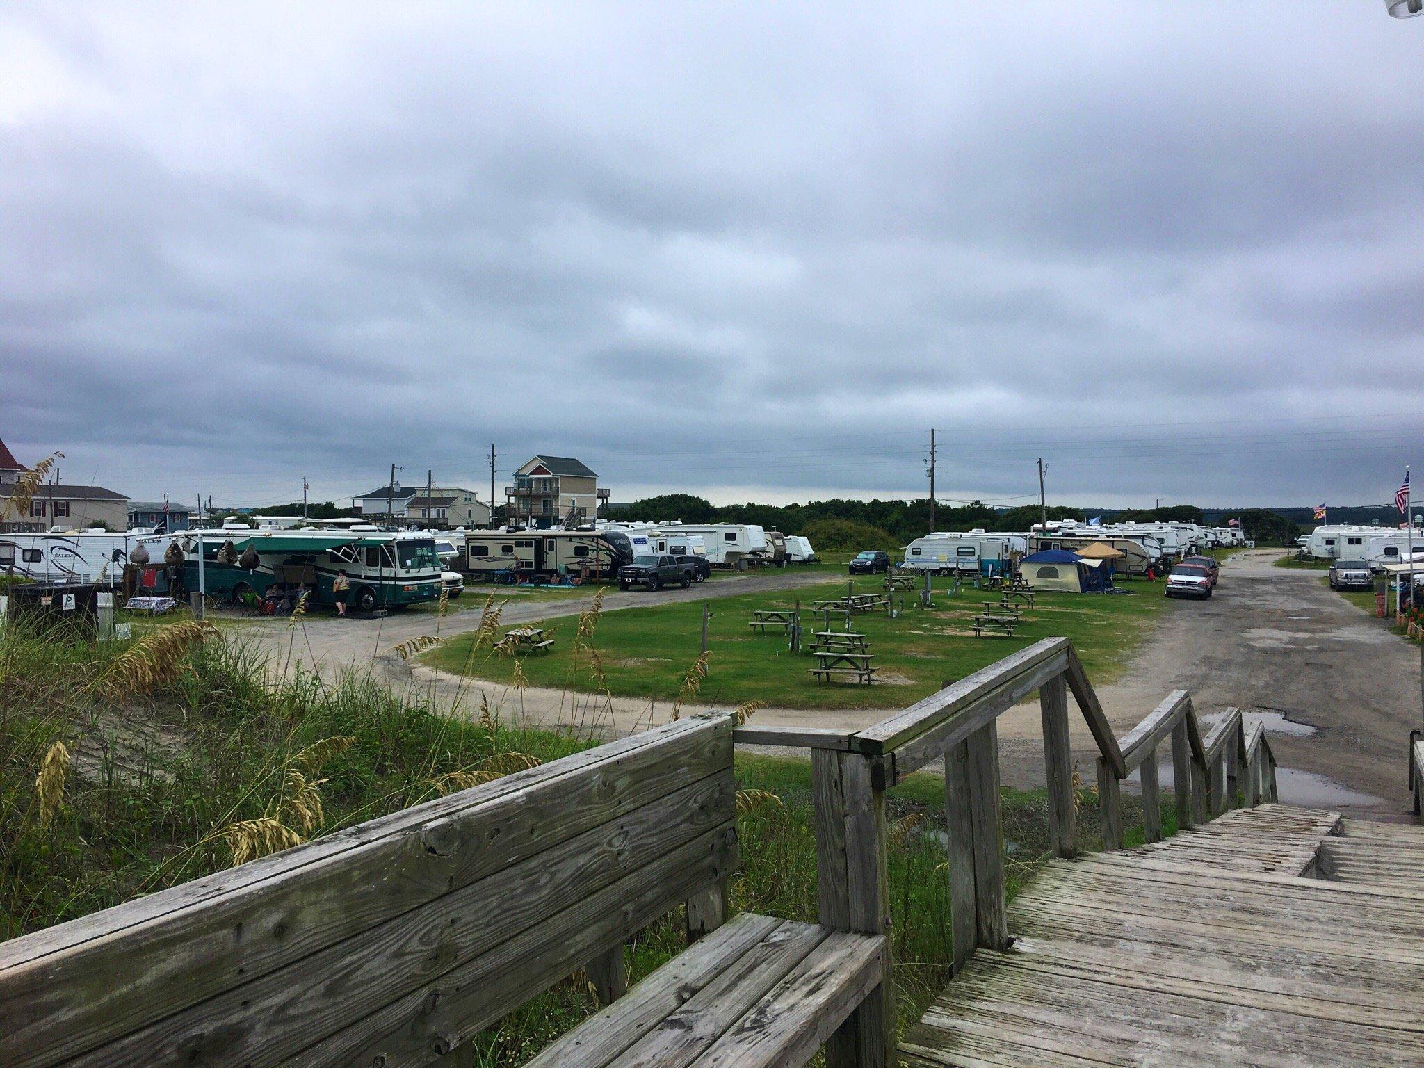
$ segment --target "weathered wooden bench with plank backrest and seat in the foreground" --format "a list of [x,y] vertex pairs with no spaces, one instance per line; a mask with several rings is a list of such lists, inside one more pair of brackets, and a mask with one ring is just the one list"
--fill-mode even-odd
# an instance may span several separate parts
[[[884,1065],[889,947],[850,907],[877,900],[853,896],[853,833],[823,924],[725,917],[732,732],[682,719],[11,938],[0,1064],[461,1064],[584,971],[604,1008],[531,1068],[795,1068],[832,1038],[836,1065]],[[691,947],[625,993],[628,940],[684,910]]]

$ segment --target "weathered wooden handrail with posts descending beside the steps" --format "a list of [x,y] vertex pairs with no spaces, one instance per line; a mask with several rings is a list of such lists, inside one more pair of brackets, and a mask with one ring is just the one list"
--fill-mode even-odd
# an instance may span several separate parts
[[[1048,819],[1057,856],[1078,852],[1069,691],[1098,748],[1105,849],[1122,847],[1122,780],[1134,770],[1142,782],[1145,837],[1162,837],[1156,753],[1168,740],[1179,827],[1219,815],[1235,805],[1237,795],[1243,805],[1276,797],[1276,759],[1260,723],[1247,728],[1242,713],[1229,709],[1203,738],[1190,696],[1173,691],[1118,739],[1071,642],[1045,638],[864,731],[738,728],[738,743],[812,750],[822,923],[840,927],[853,917],[857,930],[889,930],[884,792],[943,759],[954,965],[963,965],[975,947],[1007,947],[997,725],[998,716],[1034,691],[1042,715]],[[867,1031],[862,1038],[876,1031],[887,1049],[893,1049],[894,1020],[890,985],[884,984],[884,1002],[873,1007],[874,1015],[871,1010],[862,1014]],[[850,1062],[834,1055],[827,1059],[830,1065]]]

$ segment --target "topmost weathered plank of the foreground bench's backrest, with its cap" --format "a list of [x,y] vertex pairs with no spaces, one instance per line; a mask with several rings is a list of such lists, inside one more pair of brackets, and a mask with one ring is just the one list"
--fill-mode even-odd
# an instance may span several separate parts
[[729,718],[688,719],[13,940],[0,1064],[54,1064],[269,974],[728,769],[731,752]]

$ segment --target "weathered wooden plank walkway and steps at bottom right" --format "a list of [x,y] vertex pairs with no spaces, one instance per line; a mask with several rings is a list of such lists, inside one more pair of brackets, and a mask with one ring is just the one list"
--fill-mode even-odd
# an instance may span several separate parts
[[1265,805],[1051,862],[910,1065],[1424,1064],[1424,827]]

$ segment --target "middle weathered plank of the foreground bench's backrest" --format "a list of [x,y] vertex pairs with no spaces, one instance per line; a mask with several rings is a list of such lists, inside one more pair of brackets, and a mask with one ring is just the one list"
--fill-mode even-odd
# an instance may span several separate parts
[[[271,1064],[410,990],[427,987],[456,965],[510,944],[525,928],[557,926],[590,893],[637,876],[639,869],[661,870],[666,857],[692,866],[701,852],[722,847],[732,827],[726,802],[735,790],[729,772],[693,783],[67,1064],[101,1068],[128,1058],[164,1064],[199,1057],[224,1064]],[[703,839],[701,852],[685,854],[688,842]],[[666,874],[664,879],[669,886],[684,884]],[[698,886],[706,883],[692,889]],[[461,921],[471,916],[480,921]],[[609,944],[594,947],[594,953],[571,961],[564,974],[607,948]],[[510,970],[518,967],[511,964]],[[514,981],[514,975],[506,978]]]

